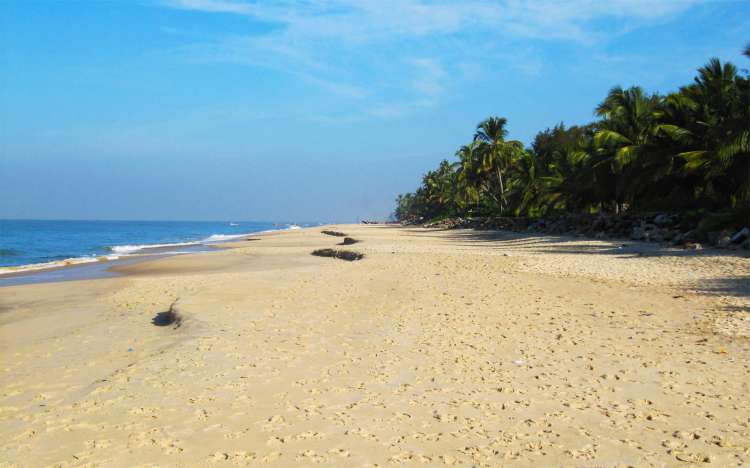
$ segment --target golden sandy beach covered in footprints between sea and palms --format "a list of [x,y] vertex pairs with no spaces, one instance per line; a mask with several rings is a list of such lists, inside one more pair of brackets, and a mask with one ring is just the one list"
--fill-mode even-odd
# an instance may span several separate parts
[[[365,257],[310,255],[344,248],[321,229]],[[0,288],[0,466],[750,463],[747,253],[381,225],[230,246]]]

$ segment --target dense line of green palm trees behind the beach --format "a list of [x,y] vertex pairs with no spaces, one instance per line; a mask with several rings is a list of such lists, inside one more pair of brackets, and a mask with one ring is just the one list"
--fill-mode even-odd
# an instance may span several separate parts
[[612,88],[595,113],[528,148],[507,138],[505,118],[482,121],[453,162],[399,195],[396,219],[693,210],[750,220],[746,70],[712,59],[666,96]]

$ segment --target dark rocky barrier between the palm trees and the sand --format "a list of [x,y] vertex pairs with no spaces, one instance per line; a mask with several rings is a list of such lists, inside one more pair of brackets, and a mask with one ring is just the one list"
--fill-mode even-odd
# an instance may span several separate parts
[[658,242],[686,249],[710,245],[725,249],[750,249],[750,227],[714,229],[710,218],[695,220],[679,213],[572,214],[549,218],[444,218],[423,223],[426,228],[503,230],[572,235],[596,239],[630,239]]

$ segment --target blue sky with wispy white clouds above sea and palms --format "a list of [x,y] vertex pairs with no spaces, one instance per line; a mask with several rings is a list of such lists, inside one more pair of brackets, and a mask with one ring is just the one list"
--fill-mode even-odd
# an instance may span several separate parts
[[750,0],[0,2],[0,217],[353,221],[489,115],[750,68]]

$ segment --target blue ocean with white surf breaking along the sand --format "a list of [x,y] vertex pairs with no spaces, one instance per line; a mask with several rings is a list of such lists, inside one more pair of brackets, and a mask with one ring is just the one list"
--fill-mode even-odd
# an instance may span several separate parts
[[103,257],[114,260],[149,252],[187,253],[203,245],[294,226],[257,221],[0,220],[0,268],[85,263]]

